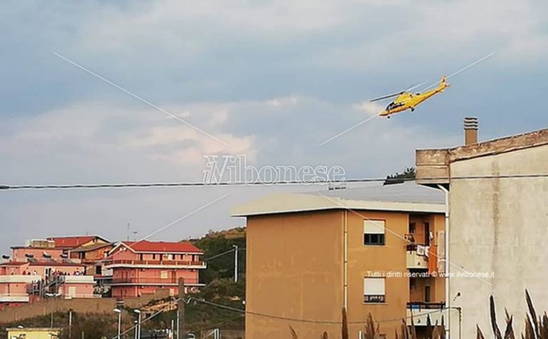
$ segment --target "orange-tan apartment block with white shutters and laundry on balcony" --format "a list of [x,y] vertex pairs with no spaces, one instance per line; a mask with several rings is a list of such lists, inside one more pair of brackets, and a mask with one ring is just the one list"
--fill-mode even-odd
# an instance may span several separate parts
[[[395,338],[412,314],[423,333],[444,313],[445,196],[414,183],[275,194],[233,210],[247,218],[245,338],[350,338],[367,313]],[[414,276],[412,276],[412,274]],[[260,315],[258,315],[260,314]]]

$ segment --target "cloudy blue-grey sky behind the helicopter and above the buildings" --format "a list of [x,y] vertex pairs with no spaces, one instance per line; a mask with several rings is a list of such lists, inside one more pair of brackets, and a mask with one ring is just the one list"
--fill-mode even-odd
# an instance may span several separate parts
[[[215,154],[384,177],[417,148],[460,145],[465,115],[482,140],[541,129],[546,13],[505,0],[4,1],[0,184],[201,181]],[[491,52],[415,113],[320,145],[378,113],[368,99]],[[183,217],[151,239],[184,239],[243,224],[234,204],[298,189],[310,187],[2,191],[0,252],[124,239],[127,223],[140,238]]]

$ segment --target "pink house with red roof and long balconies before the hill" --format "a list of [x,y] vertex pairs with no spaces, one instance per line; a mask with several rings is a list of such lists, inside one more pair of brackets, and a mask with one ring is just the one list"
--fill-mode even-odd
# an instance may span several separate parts
[[178,279],[185,279],[188,292],[203,284],[198,271],[205,268],[203,252],[189,242],[121,241],[111,249],[105,269],[111,271],[112,296],[126,298],[154,293],[166,288],[171,295]]

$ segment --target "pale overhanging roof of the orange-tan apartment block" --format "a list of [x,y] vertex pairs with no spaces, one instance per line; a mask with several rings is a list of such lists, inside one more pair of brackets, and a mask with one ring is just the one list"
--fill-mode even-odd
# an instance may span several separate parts
[[237,206],[231,214],[233,217],[247,217],[326,209],[443,213],[445,194],[439,189],[423,187],[415,182],[374,184],[300,194],[272,194]]

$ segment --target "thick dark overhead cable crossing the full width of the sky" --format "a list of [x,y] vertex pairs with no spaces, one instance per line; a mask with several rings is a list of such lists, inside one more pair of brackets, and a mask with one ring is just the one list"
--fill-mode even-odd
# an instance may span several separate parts
[[[460,177],[422,177],[420,180],[479,180],[479,179],[525,179],[525,178],[544,178],[548,173],[538,174],[497,174],[497,175],[469,175]],[[362,178],[345,179],[341,182],[331,184],[352,184],[367,182],[410,182],[416,181],[415,178]],[[24,185],[0,185],[0,190],[17,189],[100,189],[100,188],[138,188],[138,187],[214,187],[214,186],[274,186],[274,185],[303,185],[303,184],[328,184],[328,182],[301,182],[301,181],[282,181],[282,182],[148,182],[148,183],[126,183],[126,184],[24,184]]]

